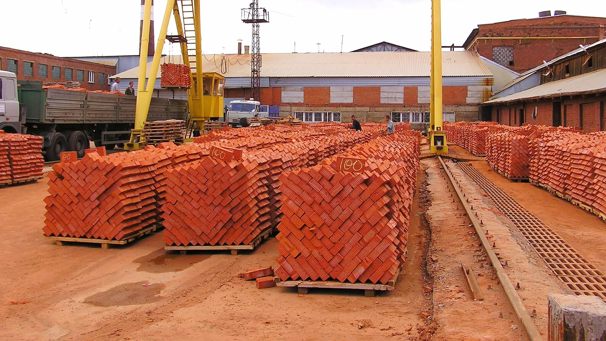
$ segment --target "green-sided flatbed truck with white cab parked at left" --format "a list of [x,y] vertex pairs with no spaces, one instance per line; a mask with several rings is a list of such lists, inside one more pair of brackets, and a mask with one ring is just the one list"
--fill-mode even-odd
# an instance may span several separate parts
[[[42,89],[41,81],[18,81],[0,71],[0,129],[44,137],[47,161],[64,151],[78,152],[94,141],[113,149],[128,142],[135,125],[136,96]],[[187,120],[187,101],[152,98],[147,120]]]

